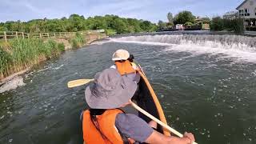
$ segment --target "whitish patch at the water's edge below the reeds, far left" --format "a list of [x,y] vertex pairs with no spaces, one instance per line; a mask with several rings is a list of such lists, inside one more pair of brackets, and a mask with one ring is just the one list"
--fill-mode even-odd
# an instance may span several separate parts
[[6,92],[9,90],[14,90],[18,86],[24,86],[24,85],[25,85],[25,83],[23,82],[23,78],[21,76],[17,76],[17,77],[14,77],[13,79],[11,79],[10,81],[4,83],[0,87],[0,93]]

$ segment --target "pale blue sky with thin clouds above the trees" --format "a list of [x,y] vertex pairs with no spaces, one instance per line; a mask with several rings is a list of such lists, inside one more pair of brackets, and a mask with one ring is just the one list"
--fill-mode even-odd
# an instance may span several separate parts
[[62,18],[70,14],[116,14],[125,18],[167,21],[166,14],[190,10],[213,17],[235,10],[243,0],[0,0],[0,22],[35,18]]

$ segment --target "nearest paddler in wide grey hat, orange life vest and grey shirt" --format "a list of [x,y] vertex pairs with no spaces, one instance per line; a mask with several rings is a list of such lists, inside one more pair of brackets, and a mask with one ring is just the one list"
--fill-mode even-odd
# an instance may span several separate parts
[[183,138],[165,136],[152,128],[156,126],[155,122],[148,124],[137,115],[120,110],[130,105],[136,89],[136,82],[122,77],[118,70],[106,69],[95,75],[94,82],[85,91],[86,102],[90,106],[82,114],[83,139],[86,144],[194,142],[191,133],[185,133]]

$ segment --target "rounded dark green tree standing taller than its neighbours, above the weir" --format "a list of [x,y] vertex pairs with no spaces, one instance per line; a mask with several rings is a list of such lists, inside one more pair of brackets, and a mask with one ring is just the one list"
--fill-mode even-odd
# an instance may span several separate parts
[[190,11],[182,11],[175,15],[174,24],[185,24],[186,22],[194,22],[195,16]]

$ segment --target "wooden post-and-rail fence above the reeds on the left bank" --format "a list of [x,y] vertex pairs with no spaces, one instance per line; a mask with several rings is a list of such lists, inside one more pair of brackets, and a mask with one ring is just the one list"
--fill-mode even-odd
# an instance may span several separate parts
[[[85,32],[81,32],[84,34]],[[88,32],[87,32],[88,33]],[[8,39],[12,38],[66,38],[73,37],[76,32],[57,32],[57,33],[39,33],[39,34],[30,34],[18,31],[0,31],[0,40],[4,40],[5,42]]]

